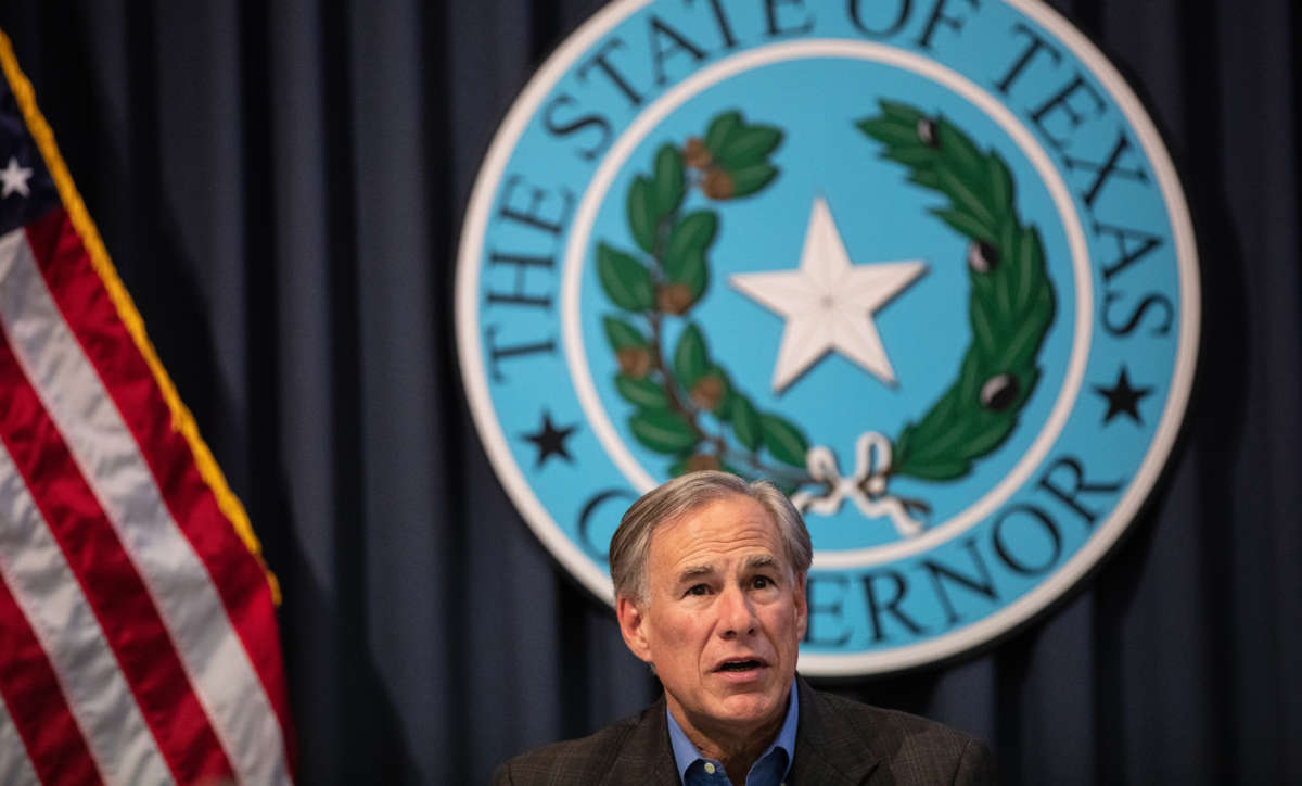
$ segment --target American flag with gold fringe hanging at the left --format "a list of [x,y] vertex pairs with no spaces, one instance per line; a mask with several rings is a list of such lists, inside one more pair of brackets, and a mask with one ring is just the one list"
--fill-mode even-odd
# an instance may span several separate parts
[[289,782],[275,581],[0,64],[0,783]]

